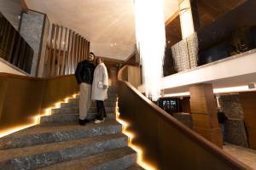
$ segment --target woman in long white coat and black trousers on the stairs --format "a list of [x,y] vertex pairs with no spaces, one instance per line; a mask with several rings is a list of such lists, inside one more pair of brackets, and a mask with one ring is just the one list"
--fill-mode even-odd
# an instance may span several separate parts
[[104,122],[106,111],[103,101],[108,99],[108,71],[102,58],[96,58],[96,69],[91,89],[91,99],[96,100],[97,115],[95,123]]

